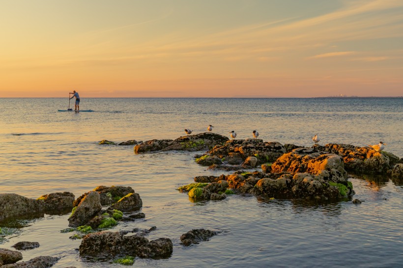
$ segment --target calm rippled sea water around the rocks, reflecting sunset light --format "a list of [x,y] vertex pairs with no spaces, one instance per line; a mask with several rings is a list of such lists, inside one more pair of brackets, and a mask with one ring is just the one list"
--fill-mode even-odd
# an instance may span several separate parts
[[[351,179],[360,205],[351,200],[308,202],[230,195],[193,203],[176,190],[195,176],[228,174],[195,163],[202,152],[134,154],[133,146],[99,145],[103,139],[175,139],[184,129],[237,138],[258,130],[264,141],[312,146],[385,142],[385,151],[403,157],[402,98],[312,99],[99,99],[81,109],[58,112],[68,99],[0,98],[0,193],[29,198],[57,191],[76,195],[104,185],[130,186],[143,200],[144,219],[119,223],[112,231],[149,229],[147,238],[172,239],[169,259],[136,258],[134,267],[401,267],[403,263],[403,182],[387,177]],[[73,102],[70,104],[72,107]],[[122,267],[80,258],[80,240],[70,240],[69,213],[18,222],[0,247],[37,241],[24,261],[58,256],[55,268]],[[195,228],[220,231],[210,241],[184,247],[179,237]]]

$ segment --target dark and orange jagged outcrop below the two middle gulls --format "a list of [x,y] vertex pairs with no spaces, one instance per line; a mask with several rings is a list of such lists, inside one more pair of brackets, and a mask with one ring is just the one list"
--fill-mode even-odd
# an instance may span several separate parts
[[[261,139],[233,139],[224,145],[216,145],[208,153],[196,160],[199,164],[210,164],[210,169],[237,170],[253,168],[258,164],[276,161],[286,153],[286,148],[278,142],[263,142]],[[218,159],[207,162],[200,159]]]

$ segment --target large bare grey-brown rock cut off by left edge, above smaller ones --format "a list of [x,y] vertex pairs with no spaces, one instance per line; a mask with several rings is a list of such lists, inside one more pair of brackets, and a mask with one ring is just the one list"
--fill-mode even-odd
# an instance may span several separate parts
[[0,220],[43,212],[44,209],[43,201],[30,199],[15,193],[0,193]]

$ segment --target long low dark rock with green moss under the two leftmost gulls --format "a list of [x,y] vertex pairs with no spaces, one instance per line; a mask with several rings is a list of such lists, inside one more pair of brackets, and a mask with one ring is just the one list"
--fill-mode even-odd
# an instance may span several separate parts
[[201,133],[172,139],[153,139],[134,147],[136,154],[154,151],[200,151],[223,144],[228,137],[215,133]]

